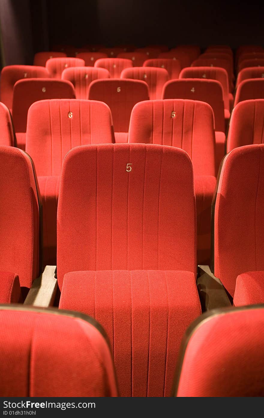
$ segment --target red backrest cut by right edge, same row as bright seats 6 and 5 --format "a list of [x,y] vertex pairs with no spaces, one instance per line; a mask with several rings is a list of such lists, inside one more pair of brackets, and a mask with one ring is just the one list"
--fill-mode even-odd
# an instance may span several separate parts
[[227,137],[227,152],[264,143],[264,99],[245,100],[234,108]]

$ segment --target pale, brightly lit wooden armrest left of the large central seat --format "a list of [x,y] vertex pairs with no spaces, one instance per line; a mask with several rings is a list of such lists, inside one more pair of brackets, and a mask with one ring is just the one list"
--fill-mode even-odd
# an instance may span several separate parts
[[42,306],[45,308],[53,306],[57,286],[56,266],[47,265],[40,277],[33,281],[24,305]]

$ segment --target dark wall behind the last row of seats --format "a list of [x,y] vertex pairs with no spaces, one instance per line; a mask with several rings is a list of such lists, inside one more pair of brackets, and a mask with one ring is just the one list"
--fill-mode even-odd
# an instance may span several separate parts
[[5,64],[64,43],[264,44],[263,2],[184,0],[0,0]]

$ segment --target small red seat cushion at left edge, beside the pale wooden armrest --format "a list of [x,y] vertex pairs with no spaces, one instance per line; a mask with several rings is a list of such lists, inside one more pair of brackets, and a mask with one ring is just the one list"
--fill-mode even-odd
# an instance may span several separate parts
[[18,275],[0,271],[0,303],[18,303],[21,297]]

